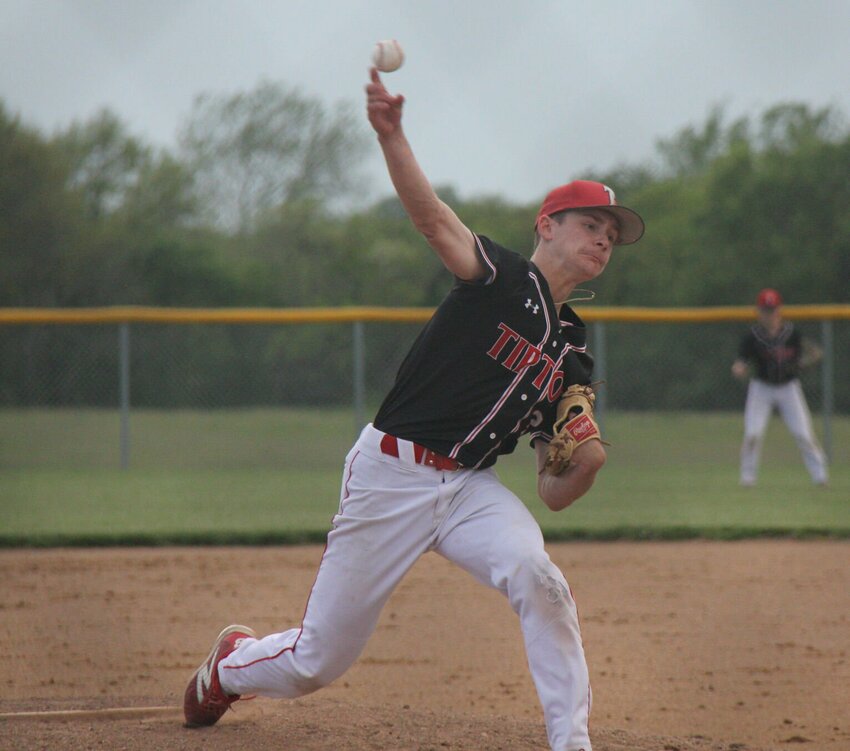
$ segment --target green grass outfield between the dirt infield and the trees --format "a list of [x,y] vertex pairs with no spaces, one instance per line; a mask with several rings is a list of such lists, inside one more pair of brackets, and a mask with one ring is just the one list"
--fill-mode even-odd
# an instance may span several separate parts
[[[850,537],[850,418],[833,421],[828,488],[776,418],[759,485],[740,488],[741,422],[608,415],[608,463],[561,513],[537,500],[523,443],[499,473],[550,540]],[[345,410],[136,411],[122,471],[114,412],[0,411],[0,545],[319,542],[354,431]]]

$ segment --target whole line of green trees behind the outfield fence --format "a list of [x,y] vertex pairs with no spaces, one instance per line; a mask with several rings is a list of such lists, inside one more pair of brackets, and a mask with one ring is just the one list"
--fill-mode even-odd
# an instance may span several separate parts
[[[436,305],[451,279],[398,200],[363,202],[377,147],[355,112],[263,82],[199,96],[177,145],[162,149],[108,110],[47,135],[0,101],[0,307]],[[850,128],[835,108],[781,103],[730,120],[716,107],[659,138],[650,162],[570,176],[611,185],[647,223],[587,286],[603,305],[746,305],[764,286],[792,304],[848,302],[848,174]],[[469,227],[530,253],[537,202],[437,190]],[[696,356],[676,334],[658,336],[668,357]],[[278,342],[284,354],[317,361],[337,346],[318,332],[281,338],[297,340]],[[21,353],[2,341],[0,399],[15,403],[35,371],[10,366]],[[30,347],[30,363],[40,356]],[[636,393],[648,365],[635,368]],[[699,408],[700,389],[683,399],[669,371],[669,383],[652,377],[653,393]]]

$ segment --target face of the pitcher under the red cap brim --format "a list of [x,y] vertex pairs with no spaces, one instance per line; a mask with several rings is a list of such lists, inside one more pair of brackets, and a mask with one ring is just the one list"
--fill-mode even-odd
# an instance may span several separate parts
[[570,211],[555,228],[563,260],[580,281],[595,279],[605,270],[618,236],[616,217],[597,209]]

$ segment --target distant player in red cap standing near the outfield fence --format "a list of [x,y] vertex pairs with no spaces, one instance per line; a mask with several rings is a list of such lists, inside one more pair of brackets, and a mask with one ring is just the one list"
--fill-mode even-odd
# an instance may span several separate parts
[[812,429],[812,417],[799,379],[801,368],[816,363],[821,351],[804,340],[793,324],[783,320],[782,297],[775,289],[759,292],[756,307],[758,321],[742,337],[738,358],[732,363],[736,378],[749,378],[741,444],[741,485],[748,487],[756,483],[762,441],[774,409],[797,441],[812,482],[826,485],[829,480],[826,457]]

